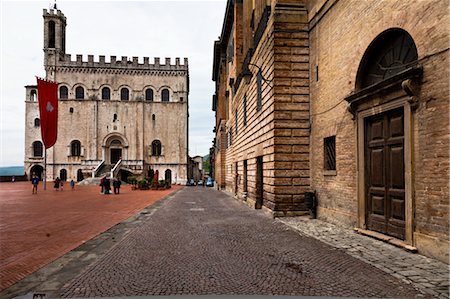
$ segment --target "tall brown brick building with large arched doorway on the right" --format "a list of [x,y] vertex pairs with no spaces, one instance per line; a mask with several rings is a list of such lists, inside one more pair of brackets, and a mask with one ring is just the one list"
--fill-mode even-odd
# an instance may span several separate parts
[[229,0],[214,44],[215,179],[448,262],[445,1]]

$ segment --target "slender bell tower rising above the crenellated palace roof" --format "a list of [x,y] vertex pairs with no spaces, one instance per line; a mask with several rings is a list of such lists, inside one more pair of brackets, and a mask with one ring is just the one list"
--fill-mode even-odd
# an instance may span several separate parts
[[44,9],[44,66],[47,77],[49,67],[56,66],[58,61],[63,61],[66,54],[66,17],[59,10]]

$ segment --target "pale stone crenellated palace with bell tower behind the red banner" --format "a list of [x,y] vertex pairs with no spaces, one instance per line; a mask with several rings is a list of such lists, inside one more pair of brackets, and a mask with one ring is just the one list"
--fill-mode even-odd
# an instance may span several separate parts
[[[161,64],[144,57],[115,56],[76,60],[65,53],[66,18],[44,10],[46,79],[58,82],[58,139],[47,150],[47,179],[81,180],[110,173],[147,176],[185,183],[188,163],[188,60]],[[25,170],[41,170],[35,155],[40,141],[36,86],[27,86]],[[78,143],[78,145],[76,144]],[[65,174],[64,174],[65,172]]]

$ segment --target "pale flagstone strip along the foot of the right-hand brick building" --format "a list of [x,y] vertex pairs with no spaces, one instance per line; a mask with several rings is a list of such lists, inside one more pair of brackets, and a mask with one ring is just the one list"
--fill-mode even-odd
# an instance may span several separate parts
[[376,268],[412,284],[424,293],[449,298],[449,266],[420,254],[407,252],[351,229],[318,219],[304,217],[278,218],[302,236],[314,237]]

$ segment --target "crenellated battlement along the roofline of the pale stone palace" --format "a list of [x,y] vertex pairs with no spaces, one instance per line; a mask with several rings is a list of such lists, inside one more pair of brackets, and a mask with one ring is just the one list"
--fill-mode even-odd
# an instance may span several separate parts
[[70,67],[93,67],[93,68],[114,68],[114,69],[137,69],[137,70],[187,70],[188,59],[184,58],[183,64],[180,58],[175,58],[175,64],[172,64],[171,58],[165,58],[164,64],[161,63],[159,57],[153,58],[153,63],[150,62],[149,57],[144,57],[143,61],[139,62],[136,56],[130,59],[127,56],[110,56],[109,62],[106,61],[104,55],[98,56],[98,60],[94,60],[94,55],[87,55],[87,60],[83,60],[83,55],[77,54],[75,60],[72,60],[71,54],[66,54],[63,61],[59,61],[58,66]]

